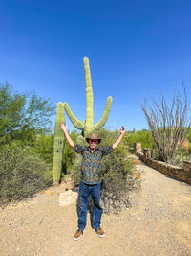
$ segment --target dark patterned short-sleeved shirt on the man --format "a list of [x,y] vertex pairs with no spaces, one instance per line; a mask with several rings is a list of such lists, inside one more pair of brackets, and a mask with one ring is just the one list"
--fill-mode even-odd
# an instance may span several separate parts
[[96,151],[92,152],[90,147],[75,144],[74,151],[82,155],[81,181],[90,185],[100,183],[102,181],[101,159],[103,155],[111,153],[113,147],[97,147]]

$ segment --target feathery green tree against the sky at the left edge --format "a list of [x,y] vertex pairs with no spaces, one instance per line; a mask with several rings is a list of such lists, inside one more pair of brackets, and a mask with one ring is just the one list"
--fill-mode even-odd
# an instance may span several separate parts
[[33,145],[36,134],[52,130],[53,102],[34,93],[16,92],[0,84],[0,145],[12,140]]

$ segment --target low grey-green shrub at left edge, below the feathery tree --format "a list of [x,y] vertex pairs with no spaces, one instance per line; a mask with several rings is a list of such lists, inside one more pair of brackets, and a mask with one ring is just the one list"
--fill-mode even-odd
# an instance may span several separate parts
[[0,148],[1,202],[31,198],[51,184],[52,167],[30,148],[15,143]]

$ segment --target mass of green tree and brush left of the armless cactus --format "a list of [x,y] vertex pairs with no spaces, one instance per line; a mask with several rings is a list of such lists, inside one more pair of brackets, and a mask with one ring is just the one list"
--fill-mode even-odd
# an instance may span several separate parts
[[52,101],[0,84],[0,200],[30,198],[52,183]]

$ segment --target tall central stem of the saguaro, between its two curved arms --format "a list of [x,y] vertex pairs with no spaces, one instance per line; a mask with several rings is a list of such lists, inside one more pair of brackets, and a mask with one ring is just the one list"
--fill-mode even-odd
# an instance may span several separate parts
[[90,74],[89,59],[83,58],[85,83],[86,83],[86,124],[88,127],[94,125],[94,111],[93,111],[93,89]]

